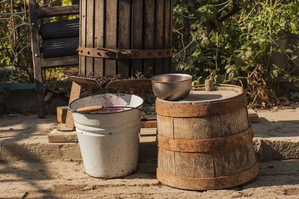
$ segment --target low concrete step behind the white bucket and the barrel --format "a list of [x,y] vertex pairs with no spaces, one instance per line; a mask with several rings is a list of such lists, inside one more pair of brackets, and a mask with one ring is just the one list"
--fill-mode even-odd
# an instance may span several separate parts
[[[259,161],[299,159],[299,107],[276,111],[258,110],[252,123],[254,147]],[[79,144],[49,143],[47,135],[56,127],[56,116],[36,115],[0,119],[0,160],[81,160]],[[142,129],[140,160],[156,159],[155,128]]]

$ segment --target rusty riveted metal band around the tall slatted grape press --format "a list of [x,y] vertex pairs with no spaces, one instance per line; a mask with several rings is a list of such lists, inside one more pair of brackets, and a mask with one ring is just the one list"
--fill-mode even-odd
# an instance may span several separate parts
[[85,57],[106,59],[153,59],[172,57],[172,49],[154,50],[121,50],[121,49],[97,49],[79,46],[78,54]]

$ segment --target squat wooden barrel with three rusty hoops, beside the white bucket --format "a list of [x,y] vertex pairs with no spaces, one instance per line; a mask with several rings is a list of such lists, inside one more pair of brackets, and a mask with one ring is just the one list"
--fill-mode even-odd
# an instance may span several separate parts
[[242,185],[258,175],[242,88],[192,90],[181,101],[156,100],[157,179],[186,190]]

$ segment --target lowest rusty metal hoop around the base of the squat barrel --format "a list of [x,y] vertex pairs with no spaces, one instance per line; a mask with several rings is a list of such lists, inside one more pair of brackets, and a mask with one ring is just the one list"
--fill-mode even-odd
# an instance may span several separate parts
[[259,173],[258,164],[255,163],[250,169],[230,176],[218,178],[183,178],[163,173],[157,168],[159,182],[185,190],[219,190],[242,185],[254,179]]

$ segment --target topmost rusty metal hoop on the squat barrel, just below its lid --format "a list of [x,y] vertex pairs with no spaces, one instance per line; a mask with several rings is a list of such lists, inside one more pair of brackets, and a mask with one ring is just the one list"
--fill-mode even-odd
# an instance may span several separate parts
[[200,117],[230,113],[247,106],[246,95],[237,98],[199,104],[164,104],[156,100],[156,113],[167,117]]

